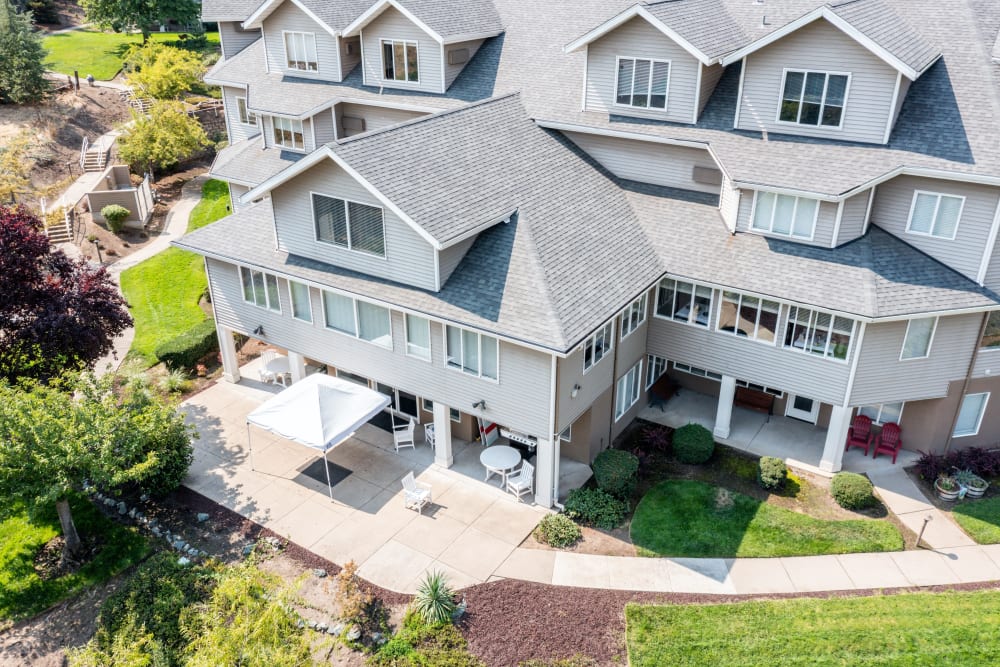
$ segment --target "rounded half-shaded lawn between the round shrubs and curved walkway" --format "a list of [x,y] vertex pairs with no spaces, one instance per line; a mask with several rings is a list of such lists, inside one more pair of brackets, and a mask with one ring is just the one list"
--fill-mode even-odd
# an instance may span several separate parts
[[825,521],[740,493],[731,503],[718,487],[668,480],[642,498],[632,541],[643,555],[731,558],[899,551],[903,537],[888,521]]

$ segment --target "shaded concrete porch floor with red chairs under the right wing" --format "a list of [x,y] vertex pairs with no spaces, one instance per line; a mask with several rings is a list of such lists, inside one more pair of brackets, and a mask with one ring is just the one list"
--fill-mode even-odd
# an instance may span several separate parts
[[[646,407],[639,413],[639,417],[672,428],[693,422],[712,430],[717,406],[716,397],[683,389],[664,404],[662,409]],[[775,456],[795,468],[830,476],[833,473],[820,466],[826,437],[827,429],[822,426],[781,415],[772,415],[768,419],[767,415],[760,412],[733,407],[729,437],[716,436],[716,441],[757,456]],[[916,459],[917,454],[902,450],[896,465],[908,466]],[[858,449],[844,452],[842,465],[843,470],[858,473],[877,472],[893,467],[891,457],[883,455],[873,459]]]

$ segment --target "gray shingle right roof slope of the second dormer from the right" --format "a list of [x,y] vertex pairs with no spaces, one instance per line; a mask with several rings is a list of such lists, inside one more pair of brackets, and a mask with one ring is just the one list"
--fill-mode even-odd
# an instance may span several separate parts
[[662,0],[645,7],[709,58],[735,51],[750,41],[723,0]]

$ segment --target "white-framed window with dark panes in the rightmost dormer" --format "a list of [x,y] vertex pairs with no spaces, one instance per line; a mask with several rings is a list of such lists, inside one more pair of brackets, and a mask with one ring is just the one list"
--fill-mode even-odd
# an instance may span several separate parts
[[842,127],[850,82],[851,75],[847,73],[785,70],[778,121]]

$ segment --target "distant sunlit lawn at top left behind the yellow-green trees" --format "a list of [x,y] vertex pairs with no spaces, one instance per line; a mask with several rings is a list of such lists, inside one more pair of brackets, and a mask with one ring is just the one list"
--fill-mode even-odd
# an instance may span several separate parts
[[[199,51],[218,51],[219,33],[206,33],[208,44]],[[170,46],[184,46],[185,41],[177,39],[177,33],[155,32],[150,39]],[[76,70],[83,79],[93,74],[95,79],[108,81],[115,77],[122,67],[122,53],[132,44],[141,44],[142,35],[117,32],[97,32],[74,30],[58,35],[49,35],[43,40],[49,51],[45,64],[49,69],[62,74],[72,74]]]

